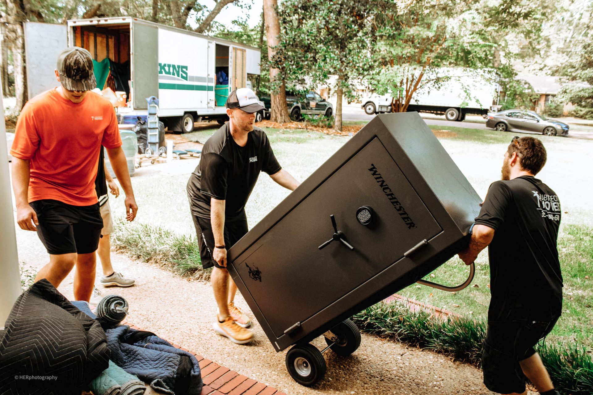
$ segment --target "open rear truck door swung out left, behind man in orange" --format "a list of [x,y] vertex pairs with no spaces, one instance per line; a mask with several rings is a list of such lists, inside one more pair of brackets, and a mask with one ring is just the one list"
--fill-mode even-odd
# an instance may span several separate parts
[[28,97],[58,85],[53,72],[56,60],[68,47],[68,27],[49,23],[25,22],[25,59]]

